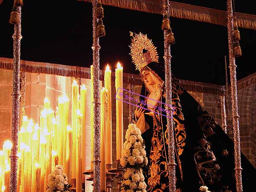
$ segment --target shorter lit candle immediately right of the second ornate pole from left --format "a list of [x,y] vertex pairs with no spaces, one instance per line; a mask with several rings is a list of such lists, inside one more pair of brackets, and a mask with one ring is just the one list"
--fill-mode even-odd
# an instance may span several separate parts
[[106,191],[106,155],[108,152],[108,148],[105,148],[106,144],[106,125],[108,116],[108,97],[107,97],[108,90],[106,90],[104,87],[101,90],[100,93],[100,190]]

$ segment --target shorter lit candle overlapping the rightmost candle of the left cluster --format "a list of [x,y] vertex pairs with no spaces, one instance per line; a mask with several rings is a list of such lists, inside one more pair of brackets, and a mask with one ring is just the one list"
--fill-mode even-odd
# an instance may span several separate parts
[[82,144],[82,114],[80,110],[77,113],[77,124],[76,124],[76,192],[82,192],[82,155],[81,155],[81,144]]

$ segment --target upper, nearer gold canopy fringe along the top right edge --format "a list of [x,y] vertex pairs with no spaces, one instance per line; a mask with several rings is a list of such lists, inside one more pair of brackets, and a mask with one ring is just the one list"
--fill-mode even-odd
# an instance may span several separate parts
[[[102,4],[162,15],[162,0],[102,0]],[[171,17],[227,26],[226,11],[173,1],[169,1],[169,4]],[[235,16],[238,27],[256,30],[256,15],[235,13]]]

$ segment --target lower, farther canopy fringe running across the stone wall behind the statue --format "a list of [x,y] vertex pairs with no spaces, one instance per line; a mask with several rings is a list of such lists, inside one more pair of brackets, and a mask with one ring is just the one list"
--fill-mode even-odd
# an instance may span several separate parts
[[[20,70],[23,72],[30,73],[45,73],[58,76],[66,77],[79,77],[84,79],[90,79],[90,68],[89,67],[76,67],[61,64],[50,64],[41,63],[33,61],[20,60]],[[12,70],[13,69],[13,59],[11,58],[1,58],[0,57],[0,69]],[[104,71],[99,72],[100,80],[104,81]],[[123,73],[123,83],[128,84],[131,78],[130,73]],[[142,80],[140,75],[133,74],[134,85],[142,85]],[[111,73],[111,81],[115,81],[115,72]],[[184,89],[188,91],[195,91],[199,93],[210,93],[215,95],[224,96],[225,87],[217,84],[207,84],[195,81],[187,81],[180,79],[180,84]],[[247,76],[244,79],[237,81],[237,89],[241,90],[252,84],[256,84],[256,73]],[[230,90],[230,87],[229,87]]]

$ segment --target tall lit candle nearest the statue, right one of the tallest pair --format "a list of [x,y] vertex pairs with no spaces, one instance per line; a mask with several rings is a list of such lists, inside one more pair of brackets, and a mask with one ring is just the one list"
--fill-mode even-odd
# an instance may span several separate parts
[[116,90],[118,90],[118,94],[116,94],[116,160],[119,160],[120,157],[122,157],[123,147],[122,71],[123,68],[118,62],[116,69]]

